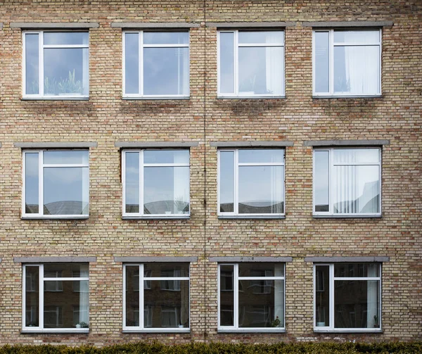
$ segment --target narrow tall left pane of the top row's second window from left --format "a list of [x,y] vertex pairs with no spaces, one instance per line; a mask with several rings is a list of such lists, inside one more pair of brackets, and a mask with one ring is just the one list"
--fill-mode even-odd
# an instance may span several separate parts
[[124,93],[139,94],[139,34],[124,34]]

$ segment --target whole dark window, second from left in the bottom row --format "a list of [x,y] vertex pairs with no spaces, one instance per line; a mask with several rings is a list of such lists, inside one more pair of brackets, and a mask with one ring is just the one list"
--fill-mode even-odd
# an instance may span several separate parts
[[127,264],[123,273],[124,330],[189,330],[188,263]]

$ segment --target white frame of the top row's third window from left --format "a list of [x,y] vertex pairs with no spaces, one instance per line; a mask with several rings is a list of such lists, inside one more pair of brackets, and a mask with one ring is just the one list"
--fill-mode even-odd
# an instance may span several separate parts
[[[282,40],[279,42],[271,42],[271,43],[262,43],[262,42],[240,42],[239,41],[239,32],[280,32],[282,33]],[[221,44],[222,44],[222,34],[232,34],[233,35],[233,46],[232,46],[232,51],[233,51],[233,58],[232,58],[232,62],[231,65],[233,65],[233,77],[232,77],[232,84],[233,84],[233,90],[232,92],[223,92],[222,90],[222,61],[224,60],[222,58],[222,51],[221,51]],[[280,68],[278,68],[278,70],[281,70],[281,77],[279,77],[279,80],[281,81],[281,89],[279,92],[277,92],[276,94],[271,94],[270,92],[267,92],[265,94],[255,94],[255,92],[253,93],[248,93],[245,94],[242,91],[239,91],[239,48],[253,48],[253,47],[263,47],[263,48],[277,48],[280,47],[283,49],[283,55],[282,55],[282,59],[281,62],[279,63]],[[260,30],[219,30],[218,34],[217,34],[217,76],[218,76],[218,80],[217,80],[217,96],[219,97],[283,97],[285,95],[285,88],[284,88],[284,58],[285,58],[285,53],[284,53],[284,30],[266,30],[266,31],[260,31]],[[269,65],[270,67],[270,65]],[[269,72],[269,76],[273,76],[274,77],[274,72]],[[272,78],[272,77],[271,77]],[[255,84],[255,82],[254,82]]]

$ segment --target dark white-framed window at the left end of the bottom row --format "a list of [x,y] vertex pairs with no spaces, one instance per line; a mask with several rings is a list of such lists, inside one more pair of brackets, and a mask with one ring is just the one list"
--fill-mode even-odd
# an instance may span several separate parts
[[89,265],[48,263],[23,266],[23,331],[88,331]]

